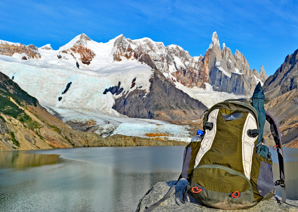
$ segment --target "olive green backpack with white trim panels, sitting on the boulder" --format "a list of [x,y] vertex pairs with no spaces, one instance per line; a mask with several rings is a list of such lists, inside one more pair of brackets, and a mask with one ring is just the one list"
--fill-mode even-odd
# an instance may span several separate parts
[[[264,102],[265,96],[259,83],[252,102],[229,99],[205,111],[202,141],[190,142],[184,150],[182,172],[178,179],[188,180],[183,201],[184,197],[189,201],[189,194],[198,202],[213,208],[246,209],[261,200],[279,200],[274,195],[275,186],[280,185],[281,201],[286,203],[280,130],[274,117],[265,111]],[[275,183],[271,153],[263,139],[266,120],[276,142],[280,165],[280,180]],[[167,199],[176,184],[145,212]]]

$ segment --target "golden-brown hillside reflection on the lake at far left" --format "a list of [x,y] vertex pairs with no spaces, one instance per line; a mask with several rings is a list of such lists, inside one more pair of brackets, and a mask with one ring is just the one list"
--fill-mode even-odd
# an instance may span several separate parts
[[0,151],[0,168],[26,168],[57,164],[58,155],[26,154],[26,151]]

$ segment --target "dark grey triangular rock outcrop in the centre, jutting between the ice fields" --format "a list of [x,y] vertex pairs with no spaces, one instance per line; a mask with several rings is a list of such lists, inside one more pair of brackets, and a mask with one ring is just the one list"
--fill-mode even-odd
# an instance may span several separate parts
[[150,92],[135,89],[115,100],[113,109],[133,118],[160,120],[197,119],[207,109],[200,101],[176,88],[158,70],[150,78]]

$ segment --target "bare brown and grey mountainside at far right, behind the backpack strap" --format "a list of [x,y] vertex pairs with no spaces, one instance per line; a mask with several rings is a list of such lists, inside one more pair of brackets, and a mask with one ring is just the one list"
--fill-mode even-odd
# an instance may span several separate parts
[[[267,78],[263,89],[269,100],[265,109],[271,113],[280,127],[283,144],[298,148],[298,49],[286,56],[285,62]],[[273,140],[269,126],[267,136]],[[272,142],[273,143],[273,142]]]

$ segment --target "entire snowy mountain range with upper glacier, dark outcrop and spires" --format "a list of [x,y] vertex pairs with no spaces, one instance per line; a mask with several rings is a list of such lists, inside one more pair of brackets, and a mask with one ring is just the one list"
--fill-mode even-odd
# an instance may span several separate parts
[[0,54],[15,58],[1,56],[1,71],[42,104],[110,116],[194,119],[204,104],[250,95],[266,77],[262,68],[262,76],[250,70],[239,51],[233,56],[224,44],[221,51],[216,32],[204,57],[150,38],[97,43],[85,34],[58,50],[1,41]]

